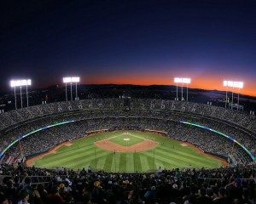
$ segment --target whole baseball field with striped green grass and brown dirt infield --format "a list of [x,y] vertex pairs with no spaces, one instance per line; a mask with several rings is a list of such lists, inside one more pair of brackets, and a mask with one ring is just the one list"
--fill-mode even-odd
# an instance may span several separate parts
[[224,161],[207,156],[192,144],[169,139],[155,133],[116,131],[97,133],[61,144],[54,150],[36,156],[27,165],[35,167],[68,167],[93,171],[148,172],[162,169],[221,167]]

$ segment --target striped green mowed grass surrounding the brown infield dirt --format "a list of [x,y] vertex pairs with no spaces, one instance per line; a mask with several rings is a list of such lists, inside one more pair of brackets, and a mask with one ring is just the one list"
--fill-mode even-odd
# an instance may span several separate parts
[[[158,142],[152,150],[134,153],[119,153],[97,148],[94,144],[102,139],[122,135],[125,131],[96,134],[72,141],[71,146],[62,146],[55,154],[40,157],[32,162],[35,167],[68,167],[81,169],[92,167],[93,170],[107,172],[148,172],[163,169],[192,167],[221,167],[221,161],[199,154],[190,146],[182,146],[182,142],[160,137],[150,133],[129,131],[139,138]],[[127,135],[126,135],[127,136]],[[125,137],[126,137],[125,136]]]

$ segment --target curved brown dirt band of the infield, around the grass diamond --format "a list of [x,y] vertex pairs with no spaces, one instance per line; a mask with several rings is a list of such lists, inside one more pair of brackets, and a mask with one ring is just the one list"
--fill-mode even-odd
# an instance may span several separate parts
[[144,139],[142,142],[133,144],[131,146],[122,146],[111,142],[109,139],[103,139],[101,141],[95,142],[98,148],[102,150],[110,150],[113,152],[139,152],[145,150],[151,150],[156,147],[159,143],[154,142],[149,139]]

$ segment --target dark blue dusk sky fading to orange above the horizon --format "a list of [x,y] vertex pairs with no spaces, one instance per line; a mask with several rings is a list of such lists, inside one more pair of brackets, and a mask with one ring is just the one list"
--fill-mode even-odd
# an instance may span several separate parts
[[[5,1],[0,89],[79,76],[86,84],[174,85],[256,96],[256,1]],[[234,90],[235,92],[237,90]]]

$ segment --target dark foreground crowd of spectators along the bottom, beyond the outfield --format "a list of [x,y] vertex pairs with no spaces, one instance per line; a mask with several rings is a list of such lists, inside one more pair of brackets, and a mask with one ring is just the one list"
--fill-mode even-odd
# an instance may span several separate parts
[[105,173],[2,165],[0,203],[256,203],[255,165]]

